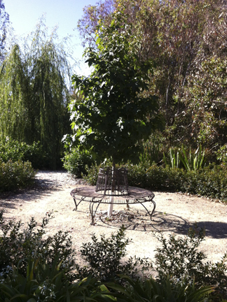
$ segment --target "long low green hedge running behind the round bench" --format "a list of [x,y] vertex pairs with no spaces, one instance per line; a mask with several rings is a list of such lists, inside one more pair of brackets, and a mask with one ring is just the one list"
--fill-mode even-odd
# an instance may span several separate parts
[[[142,187],[154,191],[184,192],[199,194],[227,201],[227,167],[209,165],[198,171],[186,171],[170,166],[153,164],[126,164],[128,183],[133,187]],[[88,175],[83,176],[90,185],[95,185],[99,166],[87,168]]]

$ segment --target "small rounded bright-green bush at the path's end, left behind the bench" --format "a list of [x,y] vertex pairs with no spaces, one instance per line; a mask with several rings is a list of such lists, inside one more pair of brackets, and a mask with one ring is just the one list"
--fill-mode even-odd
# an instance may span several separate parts
[[95,159],[90,152],[81,152],[76,148],[72,149],[71,152],[65,152],[62,161],[64,168],[76,178],[81,178],[82,174],[86,174],[85,166],[90,168],[92,164],[95,164]]

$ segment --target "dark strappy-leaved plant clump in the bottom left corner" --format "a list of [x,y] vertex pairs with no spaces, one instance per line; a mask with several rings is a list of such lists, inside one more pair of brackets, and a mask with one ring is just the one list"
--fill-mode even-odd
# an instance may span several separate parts
[[51,267],[43,259],[28,261],[26,275],[13,266],[0,282],[0,302],[109,301],[109,294],[95,278],[69,282],[59,254]]

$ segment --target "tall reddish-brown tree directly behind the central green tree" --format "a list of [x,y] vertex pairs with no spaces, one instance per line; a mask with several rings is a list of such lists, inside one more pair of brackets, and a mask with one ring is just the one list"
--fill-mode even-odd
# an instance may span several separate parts
[[[86,7],[78,27],[83,42],[93,43],[98,20],[108,26],[109,10],[124,5],[128,19],[133,24],[132,34],[139,38],[139,58],[153,59],[156,71],[152,78],[151,94],[160,97],[160,109],[165,115],[167,126],[174,124],[174,115],[181,115],[184,104],[181,96],[191,72],[202,39],[202,31],[207,21],[207,13],[212,8],[209,0],[113,0]],[[106,10],[103,10],[102,7]],[[83,22],[82,22],[83,21]]]

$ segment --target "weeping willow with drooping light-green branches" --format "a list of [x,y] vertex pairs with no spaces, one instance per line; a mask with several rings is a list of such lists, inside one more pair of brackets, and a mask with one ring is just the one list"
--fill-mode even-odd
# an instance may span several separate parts
[[40,22],[29,40],[11,48],[0,71],[0,136],[40,141],[56,167],[62,136],[69,131],[70,66],[64,43]]

